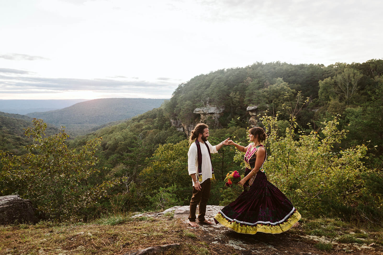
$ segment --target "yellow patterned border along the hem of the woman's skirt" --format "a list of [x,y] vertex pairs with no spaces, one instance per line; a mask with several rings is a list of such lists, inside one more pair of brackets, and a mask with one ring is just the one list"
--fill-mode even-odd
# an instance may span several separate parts
[[218,213],[216,216],[214,216],[214,219],[216,219],[223,226],[230,227],[232,230],[242,234],[255,234],[257,232],[280,234],[290,229],[290,227],[297,223],[300,218],[301,214],[295,210],[295,212],[291,214],[288,219],[277,225],[258,223],[254,226],[250,226],[242,223],[237,223],[236,221],[228,221],[228,219],[224,218],[221,213]]

